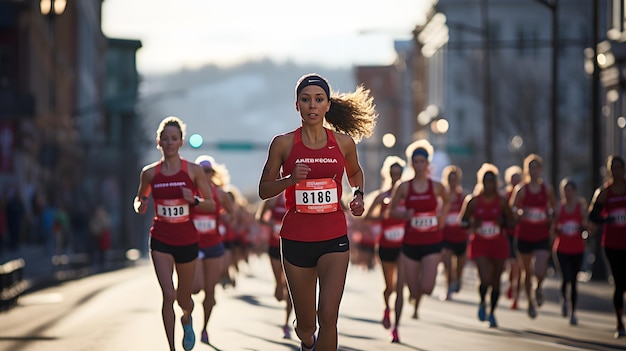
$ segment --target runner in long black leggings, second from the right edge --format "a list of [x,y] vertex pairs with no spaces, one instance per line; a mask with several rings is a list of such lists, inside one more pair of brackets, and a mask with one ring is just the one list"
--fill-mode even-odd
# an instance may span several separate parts
[[584,198],[576,196],[576,183],[568,178],[563,179],[559,187],[561,204],[556,212],[552,252],[561,271],[561,315],[563,317],[568,315],[567,286],[569,285],[569,302],[572,311],[570,325],[576,325],[578,324],[576,281],[585,252],[583,231],[589,227],[586,215],[587,202]]

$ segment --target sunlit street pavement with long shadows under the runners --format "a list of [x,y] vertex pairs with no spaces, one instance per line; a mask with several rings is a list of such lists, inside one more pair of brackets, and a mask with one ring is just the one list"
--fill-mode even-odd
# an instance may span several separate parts
[[[28,266],[28,259],[27,259]],[[236,287],[216,289],[217,305],[209,325],[211,345],[199,342],[194,350],[298,350],[295,333],[282,338],[284,302],[274,299],[274,283],[266,255],[252,256],[240,265]],[[504,277],[503,277],[504,278]],[[625,350],[626,339],[613,339],[612,287],[608,283],[580,283],[578,326],[561,317],[558,280],[545,284],[546,303],[536,319],[509,309],[506,284],[496,311],[499,327],[477,319],[476,270],[468,264],[461,291],[451,301],[443,275],[432,296],[425,297],[419,319],[405,303],[401,343],[391,343],[382,327],[382,272],[350,266],[342,300],[339,350]],[[408,294],[405,294],[408,296]],[[202,324],[202,293],[195,295],[194,329]],[[42,300],[48,302],[42,303]],[[177,309],[180,316],[180,310]],[[33,317],[39,316],[39,317]],[[50,320],[44,320],[48,316]],[[393,318],[393,316],[392,316]],[[291,317],[293,319],[293,317]],[[38,323],[38,324],[37,324]],[[177,324],[176,345],[182,340]],[[178,346],[180,348],[180,346]],[[152,267],[141,260],[134,267],[95,274],[63,284],[29,291],[18,305],[0,314],[0,350],[167,350],[160,316],[160,292]],[[324,351],[324,350],[318,350]]]

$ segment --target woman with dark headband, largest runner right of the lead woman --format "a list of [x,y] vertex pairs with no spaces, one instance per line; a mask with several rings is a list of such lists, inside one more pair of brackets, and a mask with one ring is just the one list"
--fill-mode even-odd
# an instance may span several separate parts
[[[392,342],[400,342],[398,326],[404,297],[404,285],[415,300],[415,317],[424,294],[435,287],[437,265],[441,260],[443,234],[441,229],[449,211],[448,194],[443,185],[429,176],[433,147],[427,140],[418,140],[406,149],[415,177],[398,185],[391,196],[389,217],[404,219],[405,231],[398,261],[396,284],[395,324]],[[404,200],[404,207],[401,206]],[[439,204],[441,203],[441,208]]]

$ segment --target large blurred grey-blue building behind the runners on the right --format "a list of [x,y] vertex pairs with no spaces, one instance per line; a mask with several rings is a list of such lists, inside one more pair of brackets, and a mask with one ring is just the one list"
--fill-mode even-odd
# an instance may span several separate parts
[[[415,31],[428,72],[427,110],[418,111],[418,119],[451,162],[471,175],[482,162],[504,169],[537,153],[546,179],[573,176],[588,184],[591,85],[583,66],[592,40],[591,3],[439,0],[434,6]],[[444,133],[436,127],[442,119]],[[552,138],[552,123],[558,139]]]

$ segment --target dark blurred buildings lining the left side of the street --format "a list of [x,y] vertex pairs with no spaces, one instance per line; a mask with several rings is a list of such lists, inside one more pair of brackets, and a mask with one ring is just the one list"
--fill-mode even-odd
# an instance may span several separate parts
[[[132,197],[121,194],[128,170],[136,169],[134,145],[125,139],[137,124],[141,44],[106,38],[101,5],[0,0],[0,194],[18,186],[29,215],[36,193],[65,204],[76,221],[71,251],[88,250],[80,223],[99,203],[114,217],[127,210],[120,201]],[[123,103],[111,99],[116,94]],[[113,230],[123,233],[117,217]]]

